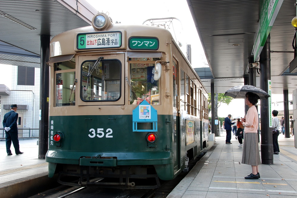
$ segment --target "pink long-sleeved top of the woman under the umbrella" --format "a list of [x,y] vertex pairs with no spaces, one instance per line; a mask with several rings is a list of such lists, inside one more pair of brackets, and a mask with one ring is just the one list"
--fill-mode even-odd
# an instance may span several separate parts
[[245,116],[245,122],[242,122],[244,127],[244,133],[257,133],[258,130],[258,112],[255,105],[249,107],[247,115]]

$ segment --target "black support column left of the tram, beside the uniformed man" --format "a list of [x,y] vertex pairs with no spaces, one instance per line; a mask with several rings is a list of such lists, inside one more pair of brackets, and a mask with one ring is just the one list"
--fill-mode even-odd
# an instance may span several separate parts
[[45,159],[48,151],[48,96],[50,35],[40,35],[40,114],[38,159]]

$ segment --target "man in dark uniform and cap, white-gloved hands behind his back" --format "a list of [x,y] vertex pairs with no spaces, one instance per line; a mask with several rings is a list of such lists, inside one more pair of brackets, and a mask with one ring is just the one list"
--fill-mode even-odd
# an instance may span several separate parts
[[11,142],[15,147],[15,154],[23,154],[20,152],[20,145],[18,141],[18,113],[16,112],[18,106],[16,104],[10,105],[11,111],[6,113],[3,117],[3,127],[5,129],[5,141],[7,155],[12,155],[10,146]]

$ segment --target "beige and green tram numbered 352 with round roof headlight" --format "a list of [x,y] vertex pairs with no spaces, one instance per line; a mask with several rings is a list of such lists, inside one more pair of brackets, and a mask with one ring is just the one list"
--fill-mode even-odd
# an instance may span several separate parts
[[48,64],[45,160],[59,183],[153,189],[208,146],[206,88],[168,30],[98,13],[52,38]]

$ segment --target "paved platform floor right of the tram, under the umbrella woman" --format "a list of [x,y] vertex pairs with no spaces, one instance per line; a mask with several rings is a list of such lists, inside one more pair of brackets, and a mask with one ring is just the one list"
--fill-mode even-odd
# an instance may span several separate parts
[[244,179],[252,168],[241,164],[238,140],[233,135],[233,144],[225,144],[225,140],[225,131],[215,137],[215,144],[167,198],[297,197],[294,137],[279,135],[279,155],[273,155],[273,165],[259,165],[260,179],[255,180]]

